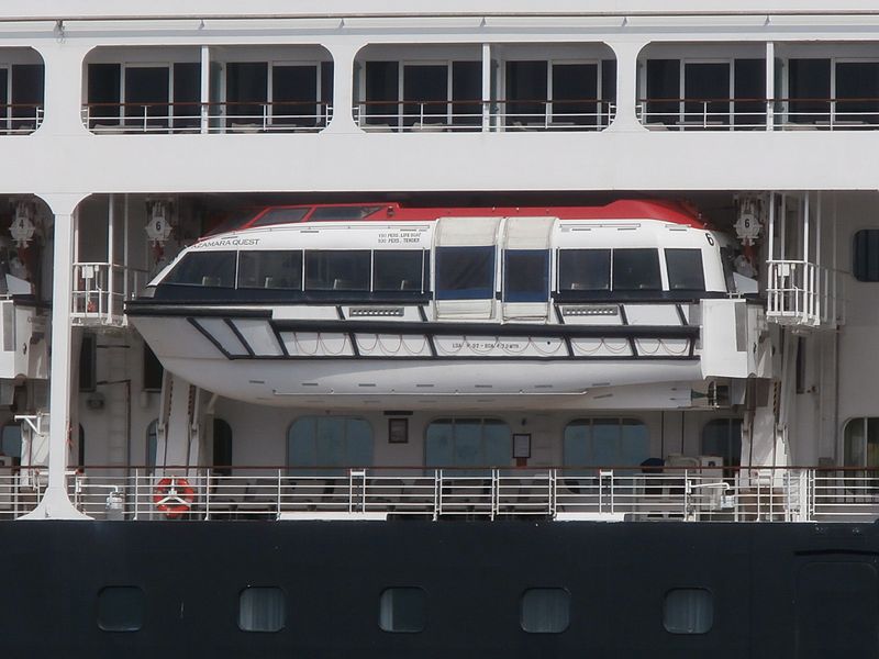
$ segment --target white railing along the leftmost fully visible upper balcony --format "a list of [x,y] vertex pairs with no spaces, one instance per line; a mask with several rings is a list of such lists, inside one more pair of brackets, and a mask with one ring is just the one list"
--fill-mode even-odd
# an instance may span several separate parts
[[316,133],[332,118],[332,105],[318,101],[82,105],[82,123],[97,134]]

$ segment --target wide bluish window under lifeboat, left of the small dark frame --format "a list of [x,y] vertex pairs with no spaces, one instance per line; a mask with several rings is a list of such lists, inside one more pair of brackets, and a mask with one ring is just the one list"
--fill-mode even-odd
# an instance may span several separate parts
[[303,416],[287,433],[290,467],[368,467],[372,428],[354,416]]

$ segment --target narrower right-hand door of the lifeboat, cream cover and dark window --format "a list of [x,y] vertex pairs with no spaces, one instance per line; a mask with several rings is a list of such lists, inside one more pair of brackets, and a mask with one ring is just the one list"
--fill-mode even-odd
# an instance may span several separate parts
[[549,313],[556,217],[508,217],[501,252],[504,321],[545,321]]

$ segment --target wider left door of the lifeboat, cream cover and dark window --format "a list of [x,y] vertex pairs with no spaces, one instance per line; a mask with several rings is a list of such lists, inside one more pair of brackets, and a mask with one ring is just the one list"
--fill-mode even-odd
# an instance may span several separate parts
[[497,317],[500,226],[500,217],[439,219],[433,255],[437,319]]

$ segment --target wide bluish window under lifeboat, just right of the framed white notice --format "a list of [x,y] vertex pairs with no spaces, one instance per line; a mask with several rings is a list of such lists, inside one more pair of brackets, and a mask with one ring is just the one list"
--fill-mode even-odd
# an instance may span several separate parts
[[647,426],[636,418],[578,418],[565,428],[565,465],[637,467],[650,456]]

